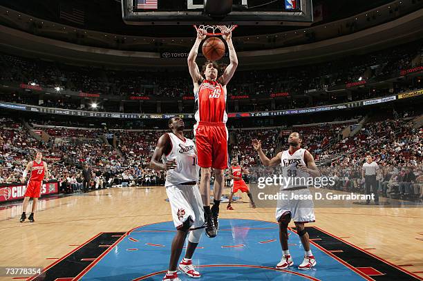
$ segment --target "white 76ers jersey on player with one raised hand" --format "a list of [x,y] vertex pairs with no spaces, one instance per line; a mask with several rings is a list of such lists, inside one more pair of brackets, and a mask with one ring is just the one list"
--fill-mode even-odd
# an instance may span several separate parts
[[304,148],[299,148],[299,150],[295,151],[292,155],[290,155],[290,151],[283,151],[281,156],[282,175],[283,178],[287,180],[287,185],[281,186],[281,188],[308,186],[307,180],[310,175],[301,171],[297,166],[306,166],[306,162],[304,162],[304,153],[306,153],[306,149]]

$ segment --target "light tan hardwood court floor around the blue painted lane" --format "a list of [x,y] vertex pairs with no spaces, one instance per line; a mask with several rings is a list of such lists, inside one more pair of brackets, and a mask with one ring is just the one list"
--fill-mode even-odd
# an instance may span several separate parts
[[[164,187],[132,187],[41,200],[36,222],[22,224],[21,204],[0,208],[0,267],[46,267],[97,233],[126,232],[142,224],[169,221],[166,198]],[[248,202],[244,193],[241,201]],[[234,211],[227,211],[223,203],[220,217],[274,222],[274,208],[233,206]],[[312,225],[423,278],[422,211],[421,207],[318,208]],[[275,263],[279,258],[275,257]]]

